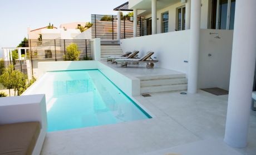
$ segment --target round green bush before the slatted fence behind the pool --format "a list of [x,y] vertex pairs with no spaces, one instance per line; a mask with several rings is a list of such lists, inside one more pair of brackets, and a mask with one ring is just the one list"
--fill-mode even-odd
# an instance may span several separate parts
[[77,48],[77,44],[70,44],[67,46],[67,53],[64,55],[65,61],[77,61],[79,60],[80,51]]

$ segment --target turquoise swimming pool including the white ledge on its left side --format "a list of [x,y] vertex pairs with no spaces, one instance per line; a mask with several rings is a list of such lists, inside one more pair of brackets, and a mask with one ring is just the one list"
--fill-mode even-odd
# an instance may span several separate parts
[[46,94],[48,132],[151,118],[99,70],[47,72],[28,94]]

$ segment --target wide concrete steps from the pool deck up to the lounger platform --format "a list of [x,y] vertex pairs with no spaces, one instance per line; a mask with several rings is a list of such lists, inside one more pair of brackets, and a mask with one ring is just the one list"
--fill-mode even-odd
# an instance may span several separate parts
[[140,93],[179,91],[188,89],[185,74],[139,77]]

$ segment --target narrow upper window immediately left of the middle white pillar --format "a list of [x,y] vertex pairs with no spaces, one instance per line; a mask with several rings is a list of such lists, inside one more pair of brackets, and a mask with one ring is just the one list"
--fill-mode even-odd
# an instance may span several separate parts
[[185,29],[185,15],[186,15],[185,6],[177,8],[176,30],[184,30]]

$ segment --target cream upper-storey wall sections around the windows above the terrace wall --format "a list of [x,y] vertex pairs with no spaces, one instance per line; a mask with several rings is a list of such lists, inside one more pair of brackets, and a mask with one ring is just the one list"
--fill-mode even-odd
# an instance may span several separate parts
[[[207,29],[209,0],[201,0],[201,3],[201,29]],[[178,2],[164,9],[157,10],[157,33],[161,33],[161,14],[167,11],[169,12],[169,32],[173,32],[176,29],[176,9],[181,6],[185,6],[185,3]],[[151,18],[151,14],[147,14],[145,18]]]

